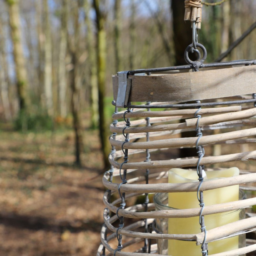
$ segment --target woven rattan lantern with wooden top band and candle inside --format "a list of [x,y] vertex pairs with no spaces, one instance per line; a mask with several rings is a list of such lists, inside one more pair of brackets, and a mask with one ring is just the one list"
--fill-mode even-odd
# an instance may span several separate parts
[[[189,59],[192,48],[202,50],[200,60]],[[185,58],[188,65],[113,76],[111,168],[103,177],[108,190],[98,255],[256,251],[255,241],[245,244],[242,235],[256,230],[253,212],[242,214],[256,205],[248,193],[256,182],[256,60],[204,64],[206,50],[197,42]],[[186,131],[194,136],[184,137]],[[196,156],[179,158],[181,148]],[[239,198],[239,186],[247,199]]]

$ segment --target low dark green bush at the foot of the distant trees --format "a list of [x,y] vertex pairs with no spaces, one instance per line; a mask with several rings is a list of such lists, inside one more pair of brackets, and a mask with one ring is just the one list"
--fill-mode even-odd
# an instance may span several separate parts
[[14,122],[16,131],[47,131],[54,127],[53,119],[45,112],[28,113],[21,111]]

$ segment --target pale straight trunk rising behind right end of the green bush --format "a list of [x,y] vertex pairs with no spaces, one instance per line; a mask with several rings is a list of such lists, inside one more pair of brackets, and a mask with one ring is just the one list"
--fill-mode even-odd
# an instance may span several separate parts
[[48,115],[53,115],[53,96],[52,96],[52,52],[51,52],[51,32],[49,20],[48,1],[44,0],[44,24],[45,24],[45,67],[44,67],[44,88],[45,106]]

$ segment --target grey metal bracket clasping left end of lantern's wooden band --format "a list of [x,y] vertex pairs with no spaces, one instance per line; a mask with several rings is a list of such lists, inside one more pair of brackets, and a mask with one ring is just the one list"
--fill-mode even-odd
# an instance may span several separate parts
[[131,81],[128,82],[129,71],[118,72],[118,92],[116,98],[117,107],[125,107],[131,90]]

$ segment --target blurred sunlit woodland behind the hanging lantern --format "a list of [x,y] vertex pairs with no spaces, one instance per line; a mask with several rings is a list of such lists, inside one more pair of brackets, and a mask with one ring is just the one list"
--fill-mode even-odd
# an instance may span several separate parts
[[[184,64],[192,41],[184,2],[0,6],[0,255],[93,255],[110,152],[111,74]],[[255,24],[255,13],[255,0],[203,6],[198,40],[207,62]],[[256,59],[255,43],[253,30],[224,60]]]

